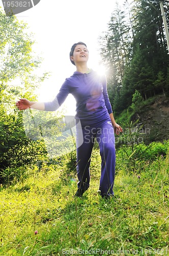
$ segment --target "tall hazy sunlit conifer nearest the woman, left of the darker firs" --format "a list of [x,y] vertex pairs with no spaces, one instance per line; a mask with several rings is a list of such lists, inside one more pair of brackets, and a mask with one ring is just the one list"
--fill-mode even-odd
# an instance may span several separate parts
[[111,102],[120,97],[125,67],[129,65],[132,30],[128,20],[126,12],[117,5],[108,23],[108,31],[100,37],[101,56],[108,71],[107,90]]

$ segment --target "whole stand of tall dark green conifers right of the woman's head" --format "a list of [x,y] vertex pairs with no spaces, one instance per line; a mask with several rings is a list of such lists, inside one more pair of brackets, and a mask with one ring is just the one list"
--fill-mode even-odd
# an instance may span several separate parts
[[[168,23],[168,6],[164,2]],[[169,24],[169,23],[168,23]],[[101,39],[101,56],[108,73],[108,93],[114,111],[132,102],[135,90],[144,99],[168,93],[166,38],[159,3],[133,1],[112,13],[108,32]]]

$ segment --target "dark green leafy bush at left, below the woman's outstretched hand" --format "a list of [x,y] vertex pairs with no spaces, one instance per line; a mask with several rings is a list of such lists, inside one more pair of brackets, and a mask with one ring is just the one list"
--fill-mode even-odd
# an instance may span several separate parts
[[[1,111],[0,142],[1,182],[14,179],[15,175],[10,174],[13,172],[12,169],[19,166],[29,166],[46,158],[47,152],[44,142],[42,140],[36,142],[26,137],[21,113],[16,117]],[[19,172],[17,179],[18,177]]]

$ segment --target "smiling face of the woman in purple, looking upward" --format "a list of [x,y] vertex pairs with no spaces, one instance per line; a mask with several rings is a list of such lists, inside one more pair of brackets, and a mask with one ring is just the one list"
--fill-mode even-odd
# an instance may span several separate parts
[[74,49],[73,56],[71,56],[71,60],[73,60],[76,65],[81,62],[87,62],[88,59],[89,59],[89,52],[86,46],[77,45]]

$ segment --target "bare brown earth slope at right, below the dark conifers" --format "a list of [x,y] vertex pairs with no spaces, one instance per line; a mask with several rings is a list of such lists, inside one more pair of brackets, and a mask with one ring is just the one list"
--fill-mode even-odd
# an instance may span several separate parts
[[169,97],[156,96],[150,104],[145,104],[140,112],[132,116],[132,120],[139,119],[146,133],[146,143],[164,141],[169,138]]

